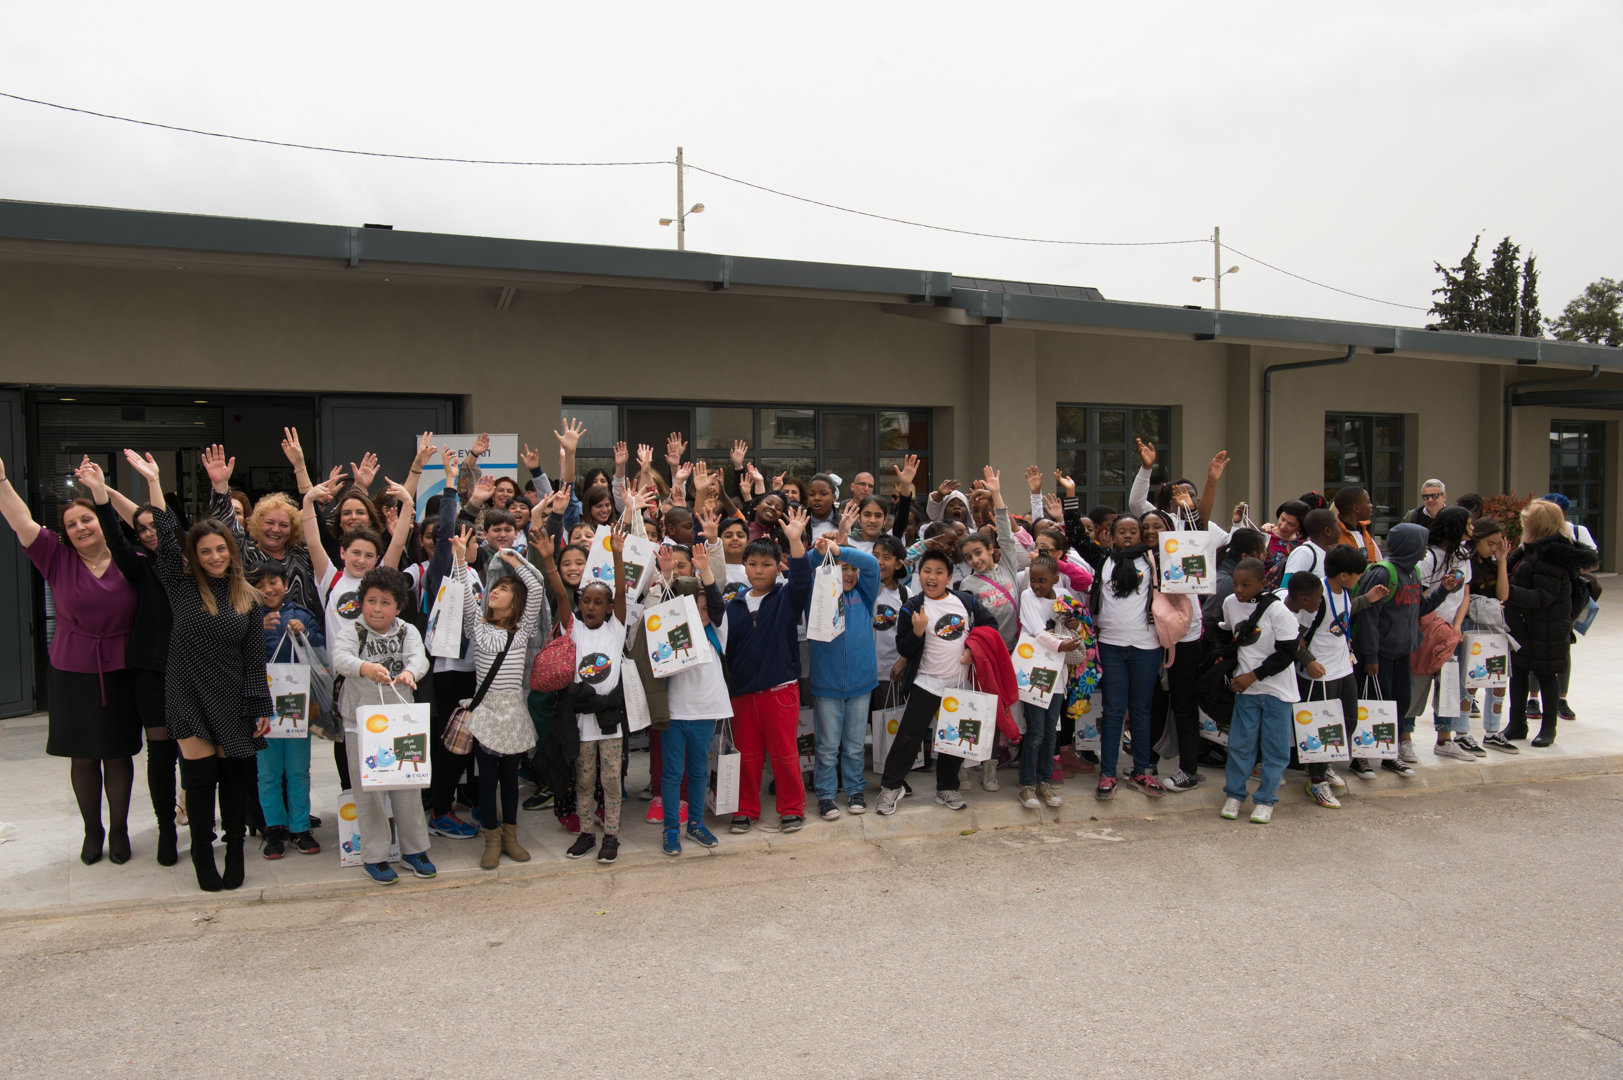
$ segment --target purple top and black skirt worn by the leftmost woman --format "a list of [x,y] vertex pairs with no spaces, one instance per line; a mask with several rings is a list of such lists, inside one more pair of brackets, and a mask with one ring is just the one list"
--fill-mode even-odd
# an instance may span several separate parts
[[28,557],[50,585],[57,637],[45,680],[54,757],[133,757],[141,752],[130,671],[123,666],[135,625],[135,586],[107,564],[99,578],[55,529],[39,529]]

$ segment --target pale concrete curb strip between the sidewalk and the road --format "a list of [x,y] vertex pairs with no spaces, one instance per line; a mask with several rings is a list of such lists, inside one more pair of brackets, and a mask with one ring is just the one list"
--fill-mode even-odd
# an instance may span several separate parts
[[[1005,770],[1006,771],[1006,770]],[[1623,773],[1623,754],[1548,754],[1524,750],[1518,757],[1495,755],[1479,760],[1475,765],[1466,762],[1422,762],[1415,776],[1404,780],[1389,773],[1380,773],[1375,781],[1349,778],[1347,794],[1352,799],[1414,796],[1422,791],[1453,791],[1461,788],[1479,788],[1487,784],[1540,783],[1553,780],[1582,780],[1587,776],[1604,776]],[[928,776],[920,773],[928,781]],[[1010,828],[1031,828],[1047,825],[1079,825],[1086,822],[1109,822],[1125,819],[1175,819],[1198,810],[1216,814],[1224,802],[1219,775],[1204,773],[1206,783],[1195,791],[1169,793],[1160,799],[1149,799],[1131,788],[1118,788],[1113,799],[1100,802],[1092,797],[1091,775],[1074,776],[1060,793],[1066,802],[1063,807],[1027,810],[1014,801],[1014,784],[1006,783],[997,793],[979,791],[977,784],[964,789],[969,806],[959,812],[951,812],[935,806],[928,791],[915,786],[893,817],[880,817],[872,804],[867,814],[842,814],[834,822],[823,822],[813,817],[807,828],[782,836],[760,825],[748,835],[734,836],[721,832],[722,843],[716,849],[706,851],[695,845],[683,848],[682,862],[698,858],[724,858],[738,854],[782,854],[807,845],[863,843],[883,845],[898,840],[922,840],[930,836],[967,836],[984,832]],[[1289,807],[1313,806],[1300,783],[1303,773],[1285,771],[1285,781],[1279,788],[1279,801]],[[641,825],[639,819],[633,819]],[[648,827],[656,832],[656,827]],[[399,883],[388,887],[388,895],[417,893],[428,890],[469,888],[476,885],[502,885],[531,882],[544,877],[563,874],[596,874],[602,872],[596,862],[571,862],[550,858],[549,853],[534,853],[529,862],[503,862],[495,872],[477,867],[443,869],[432,880],[403,877]],[[644,853],[625,853],[620,862],[609,872],[622,866],[646,867],[665,862],[656,846]],[[300,882],[292,885],[245,887],[235,892],[195,893],[187,896],[153,896],[135,900],[104,900],[88,903],[52,905],[42,908],[18,908],[0,911],[0,926],[39,922],[45,919],[75,918],[88,914],[115,914],[136,911],[195,911],[196,908],[250,906],[261,903],[292,903],[300,900],[352,900],[357,896],[377,896],[380,887],[365,877],[346,877],[333,882]]]

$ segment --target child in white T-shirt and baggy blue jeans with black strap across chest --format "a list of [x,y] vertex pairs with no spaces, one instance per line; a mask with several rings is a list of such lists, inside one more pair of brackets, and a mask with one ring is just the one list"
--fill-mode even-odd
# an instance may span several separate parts
[[[1279,781],[1290,762],[1290,703],[1298,700],[1297,612],[1316,611],[1324,583],[1313,575],[1292,578],[1285,599],[1263,593],[1263,560],[1242,559],[1233,568],[1233,596],[1224,601],[1222,629],[1235,635],[1233,718],[1229,721],[1229,763],[1220,815],[1240,817],[1250,794],[1251,823],[1266,825],[1279,802]],[[1261,765],[1256,793],[1246,791],[1251,770]]]

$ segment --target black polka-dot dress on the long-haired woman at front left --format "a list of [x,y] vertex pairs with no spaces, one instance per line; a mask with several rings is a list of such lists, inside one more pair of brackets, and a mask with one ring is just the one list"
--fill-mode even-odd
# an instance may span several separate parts
[[265,606],[239,616],[229,601],[227,583],[209,578],[219,614],[208,614],[196,578],[185,567],[175,518],[167,510],[154,515],[157,526],[157,575],[169,593],[174,630],[169,638],[169,669],[164,700],[170,739],[208,739],[226,757],[253,757],[265,749],[253,729],[271,715],[271,692],[265,682]]

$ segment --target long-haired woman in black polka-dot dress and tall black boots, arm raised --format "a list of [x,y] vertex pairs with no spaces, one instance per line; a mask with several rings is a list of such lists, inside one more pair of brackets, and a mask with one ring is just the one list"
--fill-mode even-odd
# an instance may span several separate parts
[[[265,603],[243,575],[230,528],[214,518],[198,521],[182,549],[153,455],[123,455],[146,477],[157,526],[157,575],[174,619],[164,711],[169,736],[180,745],[192,867],[203,892],[237,888],[245,874],[248,799],[258,796],[255,758],[265,749],[273,711],[265,682]],[[224,874],[214,864],[216,789]]]

